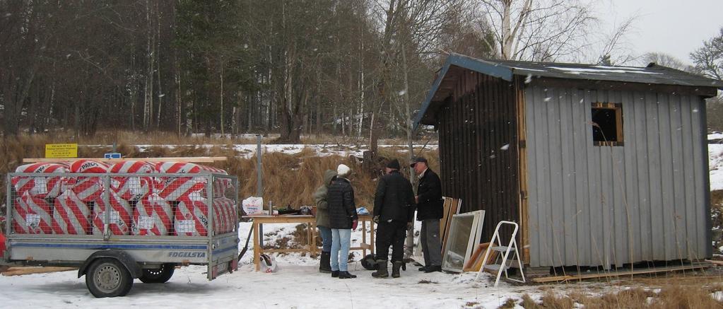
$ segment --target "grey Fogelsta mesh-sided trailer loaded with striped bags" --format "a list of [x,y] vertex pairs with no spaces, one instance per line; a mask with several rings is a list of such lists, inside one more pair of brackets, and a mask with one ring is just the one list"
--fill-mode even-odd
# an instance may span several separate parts
[[[183,172],[183,171],[182,171]],[[238,179],[186,173],[9,173],[0,265],[69,266],[95,297],[177,266],[238,270]]]

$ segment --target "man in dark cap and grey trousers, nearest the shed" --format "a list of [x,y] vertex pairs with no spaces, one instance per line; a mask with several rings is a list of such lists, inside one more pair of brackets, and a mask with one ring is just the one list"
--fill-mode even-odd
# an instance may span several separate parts
[[419,177],[416,189],[416,219],[422,221],[419,242],[422,242],[424,266],[419,271],[431,273],[442,271],[442,245],[440,243],[440,219],[444,212],[442,182],[427,166],[427,159],[417,157],[409,165]]

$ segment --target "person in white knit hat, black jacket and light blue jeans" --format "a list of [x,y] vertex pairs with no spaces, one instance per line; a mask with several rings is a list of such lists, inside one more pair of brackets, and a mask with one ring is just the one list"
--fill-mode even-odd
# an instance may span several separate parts
[[358,216],[354,203],[354,188],[346,179],[351,169],[339,164],[338,177],[329,186],[327,202],[329,207],[329,227],[331,228],[331,276],[339,279],[356,278],[349,274],[347,260],[351,246],[351,230],[356,229]]

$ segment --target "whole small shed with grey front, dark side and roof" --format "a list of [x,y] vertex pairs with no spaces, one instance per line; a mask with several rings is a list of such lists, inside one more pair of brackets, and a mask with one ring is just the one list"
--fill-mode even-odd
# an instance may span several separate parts
[[439,132],[443,194],[487,212],[483,241],[518,222],[529,266],[696,261],[712,254],[703,100],[719,88],[656,64],[451,54],[415,125]]

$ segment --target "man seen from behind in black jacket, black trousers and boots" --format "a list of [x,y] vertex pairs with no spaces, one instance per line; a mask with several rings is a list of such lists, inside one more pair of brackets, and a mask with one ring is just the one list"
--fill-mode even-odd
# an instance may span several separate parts
[[392,246],[392,277],[399,277],[403,265],[404,237],[414,218],[414,191],[411,183],[399,173],[399,161],[387,164],[387,174],[379,180],[374,195],[374,221],[377,222],[377,265],[375,278],[387,278],[389,246]]

